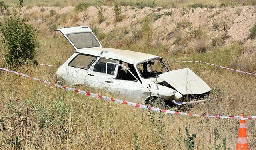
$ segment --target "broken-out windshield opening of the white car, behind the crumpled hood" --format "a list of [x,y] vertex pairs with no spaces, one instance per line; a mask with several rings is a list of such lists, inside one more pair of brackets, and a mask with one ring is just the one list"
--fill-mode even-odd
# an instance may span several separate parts
[[142,78],[154,78],[158,74],[169,71],[167,66],[162,61],[162,58],[157,58],[138,64],[138,70]]

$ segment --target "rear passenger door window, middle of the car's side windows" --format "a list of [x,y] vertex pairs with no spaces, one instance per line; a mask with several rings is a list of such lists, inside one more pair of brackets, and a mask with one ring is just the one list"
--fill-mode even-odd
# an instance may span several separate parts
[[[106,73],[106,63],[112,62],[117,63],[116,60],[100,58],[99,61],[94,65],[93,71]],[[107,74],[114,75],[116,65],[115,64],[108,64]]]

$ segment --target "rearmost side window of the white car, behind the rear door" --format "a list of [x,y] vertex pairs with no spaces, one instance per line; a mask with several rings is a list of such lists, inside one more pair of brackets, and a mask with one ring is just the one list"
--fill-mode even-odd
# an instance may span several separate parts
[[87,55],[82,55],[78,54],[69,64],[68,66],[71,67],[76,67],[76,68],[82,68],[82,69],[88,69],[94,61],[97,58],[94,56],[87,56]]

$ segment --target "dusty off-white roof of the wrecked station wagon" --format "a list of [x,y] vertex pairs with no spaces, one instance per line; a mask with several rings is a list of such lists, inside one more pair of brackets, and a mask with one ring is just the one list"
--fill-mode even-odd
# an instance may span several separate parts
[[139,62],[143,62],[145,60],[149,60],[152,58],[158,58],[159,56],[134,52],[130,50],[120,50],[114,48],[84,48],[76,51],[77,53],[88,54],[98,57],[110,58],[121,60],[123,62],[129,64],[138,64]]

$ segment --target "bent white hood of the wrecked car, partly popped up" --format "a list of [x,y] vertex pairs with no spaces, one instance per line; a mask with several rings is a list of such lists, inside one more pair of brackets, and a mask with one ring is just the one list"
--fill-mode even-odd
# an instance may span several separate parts
[[199,76],[188,68],[172,70],[158,76],[182,95],[203,94],[211,90]]

